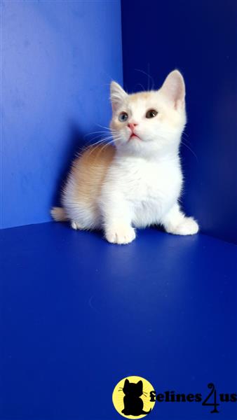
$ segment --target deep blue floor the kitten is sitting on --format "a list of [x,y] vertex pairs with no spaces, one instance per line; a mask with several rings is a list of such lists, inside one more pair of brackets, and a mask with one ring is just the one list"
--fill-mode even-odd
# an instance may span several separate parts
[[[129,375],[157,393],[237,391],[236,246],[138,232],[128,246],[45,223],[2,230],[1,419],[122,419]],[[237,418],[156,402],[149,419]]]

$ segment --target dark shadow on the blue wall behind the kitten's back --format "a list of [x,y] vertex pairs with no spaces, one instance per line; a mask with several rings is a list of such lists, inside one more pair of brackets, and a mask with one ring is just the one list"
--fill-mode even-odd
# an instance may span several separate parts
[[64,185],[67,179],[67,175],[69,174],[69,169],[72,166],[72,161],[76,157],[76,154],[79,153],[86,145],[88,145],[88,141],[86,140],[85,133],[79,129],[78,125],[72,123],[70,127],[69,141],[67,141],[65,144],[65,158],[58,172],[57,181],[55,185],[55,193],[52,197],[53,206],[61,205],[60,193],[62,191],[62,186]]

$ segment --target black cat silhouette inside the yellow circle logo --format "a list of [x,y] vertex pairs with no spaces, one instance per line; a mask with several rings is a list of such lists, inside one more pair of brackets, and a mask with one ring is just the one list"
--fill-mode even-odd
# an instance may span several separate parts
[[143,401],[140,396],[143,394],[142,381],[138,381],[137,384],[130,382],[128,379],[125,380],[123,385],[123,397],[124,408],[122,413],[125,416],[141,416],[142,414],[149,414],[143,410]]

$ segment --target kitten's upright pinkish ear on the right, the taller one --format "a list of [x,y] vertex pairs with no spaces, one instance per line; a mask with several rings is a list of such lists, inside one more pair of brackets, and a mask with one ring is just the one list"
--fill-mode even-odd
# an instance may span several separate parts
[[174,70],[168,74],[161,87],[161,92],[172,101],[175,109],[184,109],[185,104],[185,84],[180,71]]

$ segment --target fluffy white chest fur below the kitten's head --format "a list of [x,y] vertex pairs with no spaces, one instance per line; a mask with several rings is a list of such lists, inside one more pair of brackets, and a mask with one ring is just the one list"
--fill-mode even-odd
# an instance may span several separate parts
[[115,159],[104,187],[114,200],[120,200],[120,212],[128,209],[133,225],[158,223],[180,196],[180,160]]

